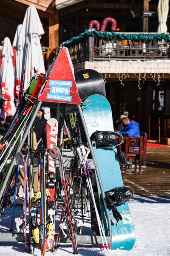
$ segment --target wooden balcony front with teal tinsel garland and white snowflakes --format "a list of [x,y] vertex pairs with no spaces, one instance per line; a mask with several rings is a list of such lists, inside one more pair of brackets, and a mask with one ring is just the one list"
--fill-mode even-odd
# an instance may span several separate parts
[[169,33],[115,33],[86,30],[71,41],[64,42],[63,45],[68,47],[73,63],[170,58]]

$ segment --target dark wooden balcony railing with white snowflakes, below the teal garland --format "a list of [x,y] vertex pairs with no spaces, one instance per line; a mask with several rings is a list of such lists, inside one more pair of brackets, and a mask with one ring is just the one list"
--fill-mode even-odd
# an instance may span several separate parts
[[[140,34],[140,33],[133,33]],[[170,58],[170,41],[159,39],[157,33],[143,33],[156,35],[156,39],[131,40],[104,37],[88,37],[69,47],[71,60],[104,61],[104,60],[136,60],[136,59],[167,59]],[[128,33],[130,35],[130,33]],[[127,37],[128,38],[128,37]],[[65,45],[67,47],[67,45]]]

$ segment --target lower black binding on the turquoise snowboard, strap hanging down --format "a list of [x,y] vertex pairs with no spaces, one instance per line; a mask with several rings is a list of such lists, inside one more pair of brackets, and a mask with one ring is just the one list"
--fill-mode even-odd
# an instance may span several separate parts
[[[112,209],[113,217],[116,219],[117,223],[121,220],[122,216],[117,210],[117,206],[125,204],[125,202],[129,201],[134,195],[133,189],[129,186],[116,187],[115,189],[111,189],[105,192],[105,201],[108,208]],[[100,199],[102,200],[102,195],[100,195]]]

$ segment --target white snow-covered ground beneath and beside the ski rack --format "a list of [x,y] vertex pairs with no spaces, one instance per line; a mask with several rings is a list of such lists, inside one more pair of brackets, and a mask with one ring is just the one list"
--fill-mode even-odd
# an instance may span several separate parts
[[[167,195],[168,196],[168,195]],[[152,196],[135,196],[129,202],[131,215],[136,229],[136,244],[130,251],[110,250],[110,256],[170,256],[170,198],[161,199]],[[0,232],[11,227],[12,211],[6,210],[0,219]],[[16,215],[17,215],[16,211]],[[91,235],[90,218],[85,218],[83,235]],[[97,245],[78,244],[80,256],[102,256]],[[71,244],[61,244],[57,252],[59,256],[71,256]],[[26,256],[23,243],[1,242],[0,256]],[[40,256],[40,246],[36,247],[34,256]],[[54,256],[54,253],[45,253]]]

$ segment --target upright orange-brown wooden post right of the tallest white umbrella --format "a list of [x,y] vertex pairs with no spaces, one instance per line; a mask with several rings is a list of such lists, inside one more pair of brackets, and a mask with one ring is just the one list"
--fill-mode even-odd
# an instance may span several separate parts
[[54,49],[59,44],[59,13],[56,11],[54,15],[49,15],[49,47]]

